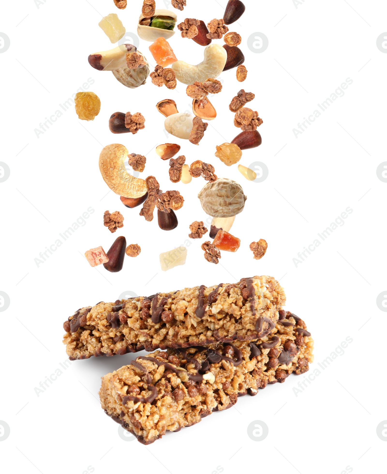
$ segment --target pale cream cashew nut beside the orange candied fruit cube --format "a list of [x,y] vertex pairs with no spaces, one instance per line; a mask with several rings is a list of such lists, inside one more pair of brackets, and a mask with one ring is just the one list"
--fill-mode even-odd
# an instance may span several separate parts
[[204,60],[197,66],[185,61],[176,61],[171,68],[175,71],[178,81],[193,84],[195,81],[205,82],[208,78],[216,79],[223,71],[226,61],[226,50],[220,45],[212,44],[205,48]]

